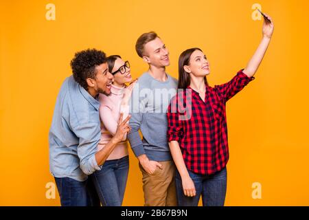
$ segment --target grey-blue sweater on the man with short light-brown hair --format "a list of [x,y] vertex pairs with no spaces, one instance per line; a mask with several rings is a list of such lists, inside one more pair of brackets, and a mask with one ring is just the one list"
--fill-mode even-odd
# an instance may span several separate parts
[[[168,118],[170,99],[176,94],[178,81],[168,75],[165,82],[156,80],[148,72],[139,77],[130,98],[130,126],[128,140],[135,156],[146,154],[155,161],[172,159],[168,146]],[[139,130],[143,140],[139,136]]]

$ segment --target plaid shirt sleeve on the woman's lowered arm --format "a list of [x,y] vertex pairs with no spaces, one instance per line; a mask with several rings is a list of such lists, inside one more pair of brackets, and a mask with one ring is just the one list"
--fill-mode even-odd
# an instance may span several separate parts
[[168,142],[172,140],[179,142],[183,137],[183,128],[181,120],[179,120],[176,100],[176,96],[174,96],[168,106]]

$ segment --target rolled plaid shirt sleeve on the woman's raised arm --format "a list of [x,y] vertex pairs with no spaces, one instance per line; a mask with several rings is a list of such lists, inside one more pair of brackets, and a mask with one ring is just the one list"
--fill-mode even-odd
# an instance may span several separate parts
[[249,77],[241,69],[228,83],[216,85],[215,89],[223,97],[225,102],[241,91],[254,77]]

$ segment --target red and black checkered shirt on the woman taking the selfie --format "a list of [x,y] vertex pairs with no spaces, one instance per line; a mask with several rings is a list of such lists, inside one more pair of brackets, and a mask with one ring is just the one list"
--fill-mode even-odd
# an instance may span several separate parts
[[190,87],[179,91],[171,100],[168,142],[179,142],[185,165],[194,173],[211,175],[227,165],[225,103],[254,79],[242,70],[228,83],[215,87],[206,85],[205,102]]

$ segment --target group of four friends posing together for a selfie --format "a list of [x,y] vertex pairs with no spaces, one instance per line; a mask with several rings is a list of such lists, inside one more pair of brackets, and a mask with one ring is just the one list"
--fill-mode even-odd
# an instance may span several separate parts
[[135,50],[149,67],[138,80],[119,55],[76,53],[49,131],[49,164],[61,205],[122,206],[129,142],[145,206],[198,206],[200,197],[203,206],[224,206],[226,102],[254,79],[273,28],[273,21],[264,21],[247,67],[214,87],[207,83],[209,61],[197,47],[179,56],[178,80],[167,74],[169,51],[155,32],[137,39]]

